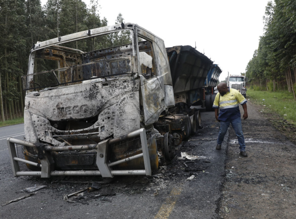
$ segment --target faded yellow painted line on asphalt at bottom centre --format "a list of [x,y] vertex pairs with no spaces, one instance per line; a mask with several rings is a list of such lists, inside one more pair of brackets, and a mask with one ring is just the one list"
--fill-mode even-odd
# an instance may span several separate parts
[[169,197],[166,198],[165,203],[163,203],[155,216],[155,219],[166,219],[170,216],[179,195],[181,194],[182,187],[173,188],[170,192]]

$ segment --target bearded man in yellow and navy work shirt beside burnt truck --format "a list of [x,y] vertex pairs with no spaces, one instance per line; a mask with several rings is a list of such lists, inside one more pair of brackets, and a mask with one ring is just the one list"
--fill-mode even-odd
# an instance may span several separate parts
[[224,82],[219,83],[217,89],[219,93],[216,95],[213,104],[216,120],[220,122],[220,132],[217,139],[216,149],[221,149],[224,136],[231,123],[231,126],[234,129],[239,142],[240,155],[242,157],[247,157],[248,155],[245,152],[246,145],[244,144],[244,135],[242,133],[241,114],[239,111],[239,104],[241,104],[244,110],[243,119],[247,119],[247,100],[239,91],[227,87],[227,84]]

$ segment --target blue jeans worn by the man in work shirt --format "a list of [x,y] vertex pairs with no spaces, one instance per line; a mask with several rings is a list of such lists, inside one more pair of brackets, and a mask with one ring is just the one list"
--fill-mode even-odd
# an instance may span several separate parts
[[222,144],[230,123],[237,135],[237,140],[239,141],[239,149],[240,151],[244,151],[246,149],[246,145],[244,144],[244,135],[242,133],[242,120],[240,117],[232,121],[220,121],[220,132],[218,135],[217,144]]

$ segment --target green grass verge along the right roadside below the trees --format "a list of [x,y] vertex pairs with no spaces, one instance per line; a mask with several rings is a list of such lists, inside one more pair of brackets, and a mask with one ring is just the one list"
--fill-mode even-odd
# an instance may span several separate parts
[[259,106],[259,111],[277,113],[289,123],[296,125],[296,101],[292,93],[285,91],[254,91],[247,90],[247,99]]

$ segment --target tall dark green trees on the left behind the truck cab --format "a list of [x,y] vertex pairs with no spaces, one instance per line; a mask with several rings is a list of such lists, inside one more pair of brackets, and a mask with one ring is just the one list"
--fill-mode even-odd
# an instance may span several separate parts
[[[82,0],[47,0],[45,7],[40,0],[0,0],[0,120],[23,114],[21,76],[27,73],[32,45],[106,26],[108,21],[100,19],[99,9],[98,0],[88,6]],[[121,14],[116,22],[123,22]],[[113,40],[124,43],[126,39],[123,34]]]

